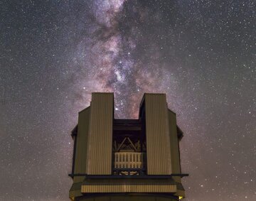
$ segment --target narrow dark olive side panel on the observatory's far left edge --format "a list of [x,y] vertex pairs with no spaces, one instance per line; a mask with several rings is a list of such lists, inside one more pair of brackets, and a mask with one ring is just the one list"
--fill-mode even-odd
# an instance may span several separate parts
[[[75,151],[74,173],[86,173],[87,139],[89,130],[90,107],[78,114],[78,135]],[[84,177],[75,177],[73,182],[80,183]]]

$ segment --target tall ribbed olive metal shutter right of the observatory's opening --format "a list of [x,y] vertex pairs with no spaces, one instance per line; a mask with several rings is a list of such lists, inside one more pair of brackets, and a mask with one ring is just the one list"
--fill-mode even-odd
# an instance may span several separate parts
[[171,174],[168,108],[165,94],[144,94],[148,175]]

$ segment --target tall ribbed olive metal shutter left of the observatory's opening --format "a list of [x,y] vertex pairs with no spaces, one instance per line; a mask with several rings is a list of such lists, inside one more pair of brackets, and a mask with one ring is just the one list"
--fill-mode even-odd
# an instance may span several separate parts
[[87,174],[112,173],[114,94],[92,93],[87,151]]

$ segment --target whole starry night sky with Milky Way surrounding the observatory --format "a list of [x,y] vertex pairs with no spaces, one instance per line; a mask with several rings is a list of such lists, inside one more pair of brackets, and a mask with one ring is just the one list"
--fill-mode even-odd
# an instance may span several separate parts
[[166,93],[187,201],[256,200],[253,0],[0,0],[0,200],[69,200],[91,92]]

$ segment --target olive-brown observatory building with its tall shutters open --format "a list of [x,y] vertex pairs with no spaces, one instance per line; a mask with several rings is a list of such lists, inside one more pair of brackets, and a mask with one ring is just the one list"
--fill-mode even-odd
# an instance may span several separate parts
[[78,115],[71,200],[172,201],[184,197],[183,137],[166,94],[144,94],[139,119],[114,119],[114,94],[92,93]]

